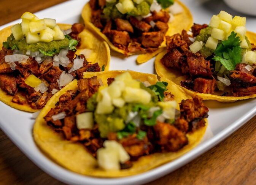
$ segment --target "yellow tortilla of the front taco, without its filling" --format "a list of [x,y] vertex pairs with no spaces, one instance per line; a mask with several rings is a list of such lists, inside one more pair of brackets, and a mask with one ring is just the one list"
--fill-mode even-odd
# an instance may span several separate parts
[[[99,79],[102,79],[103,84],[106,84],[109,77],[115,77],[122,72],[124,71],[85,73],[84,77],[92,77],[96,75]],[[154,74],[138,73],[134,71],[129,72],[134,79],[148,81],[151,84],[157,82],[157,77]],[[40,147],[40,149],[48,157],[64,168],[83,175],[95,177],[124,177],[136,175],[156,168],[157,166],[175,160],[199,144],[208,125],[208,122],[205,119],[207,123],[204,128],[201,128],[192,134],[187,134],[189,144],[178,152],[154,153],[152,155],[140,157],[137,161],[133,162],[133,166],[130,169],[120,171],[104,171],[97,168],[97,160],[86,151],[82,144],[65,140],[62,134],[55,132],[51,127],[46,125],[46,122],[43,119],[51,108],[55,107],[55,104],[59,101],[59,97],[62,94],[64,94],[67,90],[77,89],[77,81],[75,80],[52,96],[35,121],[33,136],[38,147]],[[180,102],[182,99],[191,98],[175,84],[169,84],[168,90],[175,95],[175,99],[178,96],[176,99],[178,102]]]

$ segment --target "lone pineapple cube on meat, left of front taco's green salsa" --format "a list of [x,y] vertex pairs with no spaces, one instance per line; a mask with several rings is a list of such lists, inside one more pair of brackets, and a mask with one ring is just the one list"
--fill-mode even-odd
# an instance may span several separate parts
[[76,115],[76,126],[80,129],[93,128],[94,119],[92,112],[84,112]]

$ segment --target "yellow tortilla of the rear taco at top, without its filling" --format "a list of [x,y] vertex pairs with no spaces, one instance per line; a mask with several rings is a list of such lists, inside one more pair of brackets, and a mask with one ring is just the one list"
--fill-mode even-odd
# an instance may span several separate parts
[[[168,23],[169,29],[166,33],[166,35],[174,35],[175,33],[181,33],[182,30],[189,30],[191,26],[193,25],[193,17],[192,14],[190,13],[189,9],[181,3],[179,0],[176,0],[176,2],[179,3],[183,7],[183,13],[177,14],[174,16],[174,21],[171,23]],[[84,23],[86,27],[89,30],[92,30],[92,32],[96,33],[100,38],[102,38],[104,41],[108,43],[110,48],[116,52],[124,54],[124,50],[119,49],[118,47],[114,46],[110,40],[108,40],[107,36],[104,35],[102,32],[100,32],[100,29],[95,27],[92,22],[91,22],[91,7],[89,3],[87,3],[83,10],[82,10],[82,17],[84,19]],[[147,53],[147,54],[141,54],[137,58],[138,63],[144,63],[153,58],[155,55],[160,53],[162,51],[162,47],[166,47],[165,44],[165,38],[164,41],[162,42],[161,46],[157,51],[154,51],[153,53]],[[128,55],[133,55],[134,53],[128,53]]]

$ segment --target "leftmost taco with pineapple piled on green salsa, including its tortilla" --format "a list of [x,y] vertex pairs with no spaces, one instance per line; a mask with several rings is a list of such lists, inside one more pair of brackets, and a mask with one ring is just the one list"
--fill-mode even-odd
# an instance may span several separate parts
[[108,70],[107,43],[84,25],[56,25],[55,19],[29,12],[21,19],[0,31],[0,100],[5,104],[35,112],[83,72]]

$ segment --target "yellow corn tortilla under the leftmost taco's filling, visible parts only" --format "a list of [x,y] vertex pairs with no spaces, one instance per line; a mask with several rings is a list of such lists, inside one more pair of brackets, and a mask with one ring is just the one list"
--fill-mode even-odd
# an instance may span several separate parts
[[[58,24],[62,30],[67,30],[71,28],[72,25],[69,24]],[[3,42],[7,40],[7,37],[11,35],[11,27],[3,28],[3,30],[0,30],[0,47],[2,48]],[[99,66],[102,67],[105,66],[105,70],[109,70],[110,65],[110,49],[108,47],[108,44],[106,42],[100,41],[97,37],[93,35],[93,33],[89,32],[87,29],[84,29],[83,32],[79,34],[79,37],[81,38],[81,45],[79,49],[77,50],[76,54],[80,54],[83,52],[84,49],[91,49],[91,55],[89,55],[89,59],[87,59],[88,62],[92,63],[99,63]],[[19,95],[22,99],[25,100],[25,97],[22,95]],[[38,109],[32,109],[29,104],[17,104],[13,103],[11,100],[13,99],[13,96],[7,95],[5,91],[0,89],[0,101],[3,103],[11,106],[14,109],[19,109],[21,111],[27,111],[27,112],[37,112]]]

